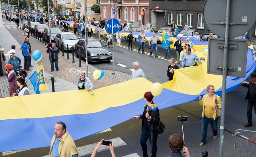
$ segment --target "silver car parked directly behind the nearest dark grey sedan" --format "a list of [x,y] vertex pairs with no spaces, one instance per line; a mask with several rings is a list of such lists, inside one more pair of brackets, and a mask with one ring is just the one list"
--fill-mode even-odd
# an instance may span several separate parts
[[75,47],[75,44],[79,41],[80,38],[77,38],[77,36],[74,33],[71,32],[61,32],[56,34],[55,36],[55,43],[58,48],[62,48],[62,41],[63,41],[63,48],[66,51],[67,50],[67,44],[68,49],[72,50],[72,46]]

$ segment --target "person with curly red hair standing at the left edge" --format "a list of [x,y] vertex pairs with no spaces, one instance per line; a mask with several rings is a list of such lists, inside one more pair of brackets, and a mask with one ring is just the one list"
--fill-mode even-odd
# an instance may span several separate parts
[[12,97],[12,94],[15,93],[15,88],[16,88],[16,74],[13,70],[13,66],[11,64],[5,65],[6,69],[6,76],[7,76],[7,81],[9,83],[9,90],[10,90],[10,97]]

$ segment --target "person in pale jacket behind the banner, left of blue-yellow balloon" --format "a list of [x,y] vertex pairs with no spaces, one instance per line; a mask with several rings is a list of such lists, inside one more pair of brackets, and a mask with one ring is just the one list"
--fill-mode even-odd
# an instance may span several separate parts
[[91,80],[88,77],[85,77],[85,72],[79,73],[80,77],[77,80],[78,89],[86,89],[88,92],[94,89]]

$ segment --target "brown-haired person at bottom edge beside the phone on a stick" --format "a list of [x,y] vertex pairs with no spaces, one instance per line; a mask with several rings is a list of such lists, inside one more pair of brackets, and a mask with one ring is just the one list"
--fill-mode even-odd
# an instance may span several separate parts
[[181,155],[181,150],[185,157],[191,157],[189,149],[184,146],[184,140],[180,133],[173,133],[169,137],[169,147],[171,148],[171,155],[169,157],[184,157]]

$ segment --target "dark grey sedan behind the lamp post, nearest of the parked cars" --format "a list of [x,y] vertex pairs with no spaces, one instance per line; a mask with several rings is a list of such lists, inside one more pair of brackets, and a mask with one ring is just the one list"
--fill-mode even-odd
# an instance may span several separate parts
[[[88,39],[87,57],[88,62],[102,62],[112,60],[112,53],[101,41]],[[85,39],[80,39],[75,44],[75,56],[79,57],[79,50],[82,58],[85,58]]]

